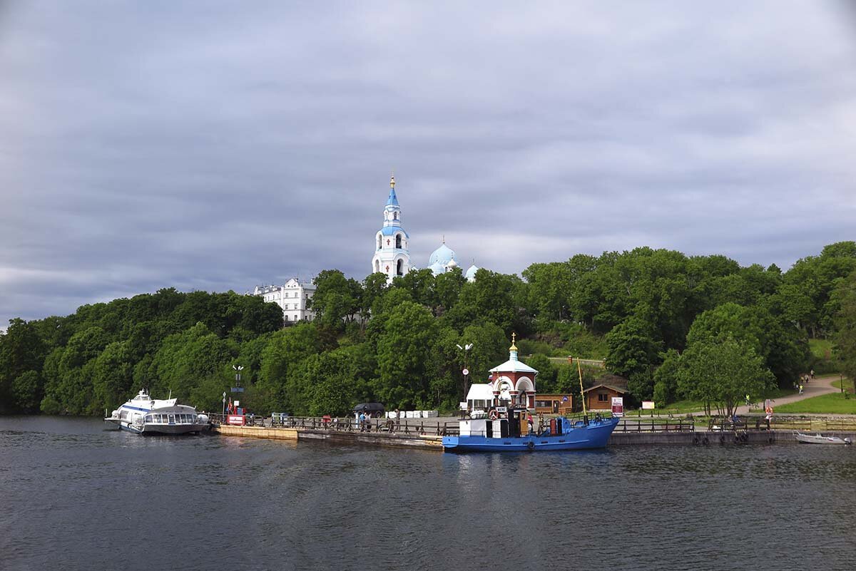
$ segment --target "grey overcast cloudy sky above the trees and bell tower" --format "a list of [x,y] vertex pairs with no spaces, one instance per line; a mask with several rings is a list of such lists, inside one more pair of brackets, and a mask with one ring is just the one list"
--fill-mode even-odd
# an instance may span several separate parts
[[0,324],[161,287],[854,239],[856,18],[805,2],[0,2]]

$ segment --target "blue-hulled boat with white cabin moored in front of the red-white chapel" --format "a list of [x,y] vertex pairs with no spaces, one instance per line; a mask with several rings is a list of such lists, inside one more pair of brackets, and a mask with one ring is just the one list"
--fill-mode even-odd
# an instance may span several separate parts
[[538,433],[520,434],[519,415],[510,418],[461,421],[461,434],[443,438],[443,450],[449,452],[509,452],[539,450],[588,450],[604,448],[619,419],[594,418],[571,420],[560,416]]

